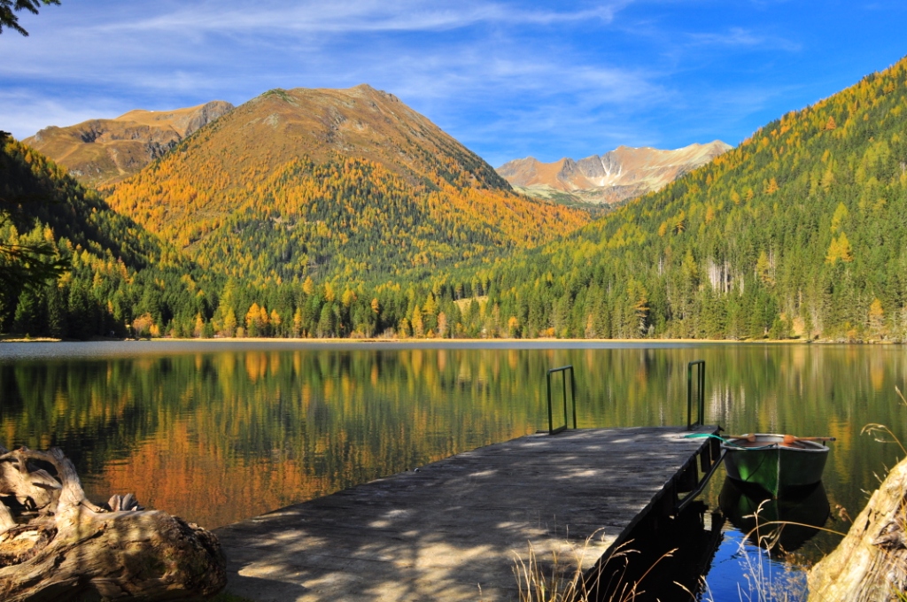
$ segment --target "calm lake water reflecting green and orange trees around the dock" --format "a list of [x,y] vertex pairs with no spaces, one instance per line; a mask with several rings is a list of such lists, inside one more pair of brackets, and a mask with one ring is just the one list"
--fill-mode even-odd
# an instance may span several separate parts
[[[902,346],[3,343],[0,443],[59,446],[93,500],[132,491],[213,529],[547,428],[545,373],[564,364],[580,427],[685,424],[687,364],[699,359],[707,423],[837,438],[811,503],[827,500],[825,528],[846,531],[838,509],[855,517],[901,452],[863,426],[882,422],[907,440]],[[721,470],[709,506],[727,505],[723,481]],[[739,599],[753,558],[779,575],[790,566],[760,560],[725,529],[708,599]],[[806,562],[839,539],[795,535]]]

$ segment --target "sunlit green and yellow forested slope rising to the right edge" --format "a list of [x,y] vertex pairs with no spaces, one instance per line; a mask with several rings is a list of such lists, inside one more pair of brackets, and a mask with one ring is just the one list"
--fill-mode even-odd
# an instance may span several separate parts
[[903,339],[907,62],[481,277],[522,335]]

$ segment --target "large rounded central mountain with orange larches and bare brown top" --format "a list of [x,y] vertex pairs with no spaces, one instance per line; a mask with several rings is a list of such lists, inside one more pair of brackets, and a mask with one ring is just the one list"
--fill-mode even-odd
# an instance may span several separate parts
[[473,152],[367,85],[266,92],[109,202],[201,264],[253,279],[434,269],[588,219],[512,194]]

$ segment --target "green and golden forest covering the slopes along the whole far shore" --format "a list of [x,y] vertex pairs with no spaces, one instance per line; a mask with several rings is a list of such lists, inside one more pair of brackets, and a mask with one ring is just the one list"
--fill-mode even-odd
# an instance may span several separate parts
[[902,60],[593,221],[456,161],[180,170],[217,121],[102,192],[7,139],[0,241],[68,268],[5,283],[0,332],[902,342],[905,124]]

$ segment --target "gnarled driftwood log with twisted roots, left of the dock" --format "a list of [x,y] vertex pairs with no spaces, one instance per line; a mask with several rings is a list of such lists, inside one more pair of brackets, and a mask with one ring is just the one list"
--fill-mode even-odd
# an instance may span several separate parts
[[192,600],[226,583],[209,531],[132,494],[93,504],[59,449],[0,447],[0,600]]

